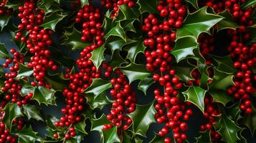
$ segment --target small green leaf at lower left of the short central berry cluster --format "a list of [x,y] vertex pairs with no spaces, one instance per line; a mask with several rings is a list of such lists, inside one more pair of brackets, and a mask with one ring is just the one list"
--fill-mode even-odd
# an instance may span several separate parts
[[104,124],[111,124],[111,122],[108,121],[104,114],[98,119],[91,119],[91,122],[91,131],[98,131],[100,133],[102,133]]

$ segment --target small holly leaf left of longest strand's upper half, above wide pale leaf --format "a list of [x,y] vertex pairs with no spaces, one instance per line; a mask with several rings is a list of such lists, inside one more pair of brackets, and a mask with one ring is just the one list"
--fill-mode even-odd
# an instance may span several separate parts
[[134,43],[128,44],[125,46],[124,50],[128,52],[128,59],[135,62],[136,56],[139,53],[143,53],[146,49],[146,46],[143,44],[143,39],[140,39]]

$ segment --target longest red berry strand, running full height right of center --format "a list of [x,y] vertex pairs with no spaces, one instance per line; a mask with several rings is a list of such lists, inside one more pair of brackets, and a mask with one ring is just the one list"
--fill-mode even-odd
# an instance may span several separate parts
[[[186,130],[188,126],[186,121],[193,114],[191,109],[186,109],[189,102],[182,103],[176,97],[183,83],[179,77],[175,77],[176,71],[171,69],[170,51],[173,49],[176,39],[176,28],[181,27],[186,16],[186,6],[181,1],[159,1],[157,6],[161,18],[156,18],[153,14],[149,14],[144,19],[143,31],[148,34],[144,39],[144,45],[149,46],[146,49],[146,68],[153,71],[153,80],[163,87],[163,91],[154,90],[156,99],[156,121],[165,123],[158,134],[164,136],[170,131],[174,133],[176,142],[184,142],[186,140]],[[156,40],[155,40],[156,39]],[[169,143],[171,139],[166,137],[164,142]]]

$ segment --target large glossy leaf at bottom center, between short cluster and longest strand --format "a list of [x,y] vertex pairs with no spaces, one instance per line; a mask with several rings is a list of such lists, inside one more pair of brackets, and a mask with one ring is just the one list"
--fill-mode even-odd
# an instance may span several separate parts
[[136,110],[131,114],[128,114],[133,119],[133,132],[134,134],[146,137],[148,127],[156,122],[155,121],[156,110],[153,104],[138,105]]

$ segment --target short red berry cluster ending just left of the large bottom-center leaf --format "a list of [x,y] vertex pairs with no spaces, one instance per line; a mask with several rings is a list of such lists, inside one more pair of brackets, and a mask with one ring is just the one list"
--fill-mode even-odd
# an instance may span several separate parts
[[[128,129],[132,123],[132,119],[126,114],[134,112],[136,109],[136,93],[131,90],[131,85],[128,83],[127,77],[120,71],[120,69],[113,69],[108,64],[103,64],[103,69],[106,69],[105,77],[110,77],[110,72],[114,72],[117,77],[113,77],[110,82],[113,89],[110,90],[111,97],[115,100],[112,104],[110,114],[107,119],[112,124],[105,124],[103,130],[110,129],[113,124],[118,129]],[[106,74],[107,73],[107,74]]]

